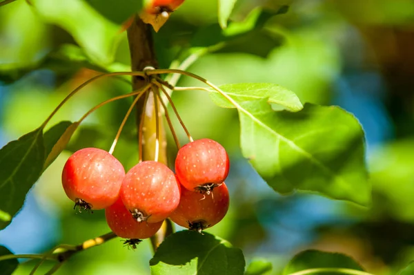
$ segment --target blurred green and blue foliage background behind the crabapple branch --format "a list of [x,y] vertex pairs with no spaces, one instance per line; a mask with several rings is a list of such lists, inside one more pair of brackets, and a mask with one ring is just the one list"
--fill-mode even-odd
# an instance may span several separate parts
[[[236,6],[235,21],[250,12],[250,6],[267,3],[239,2],[244,3]],[[290,5],[288,12],[270,16],[262,28],[229,41],[188,70],[215,84],[280,84],[297,93],[302,102],[335,104],[353,113],[366,133],[373,205],[364,209],[304,193],[279,196],[242,158],[237,113],[216,107],[206,93],[177,92],[174,102],[193,137],[213,138],[230,153],[226,180],[230,210],[219,225],[207,231],[242,248],[248,262],[270,260],[271,274],[279,274],[295,253],[308,248],[343,252],[373,274],[395,274],[414,260],[414,2],[277,2],[273,7],[282,10],[283,5]],[[66,4],[59,5],[65,8]],[[125,32],[117,33],[115,23],[119,22],[109,22],[89,8],[83,12],[105,21],[108,37],[114,36],[117,47],[81,44],[82,39],[73,36],[76,26],[68,28],[68,23],[34,10],[26,1],[0,8],[1,146],[39,126],[73,88],[96,75],[83,66],[128,68],[128,41]],[[68,22],[70,26],[73,21]],[[82,23],[88,22],[76,24]],[[96,38],[92,28],[86,30],[90,31],[86,35]],[[183,48],[216,44],[223,39],[217,33],[216,1],[186,0],[155,34],[160,66],[166,68],[175,56],[181,57]],[[57,49],[62,50],[62,45],[73,52],[70,62],[60,58]],[[70,48],[74,45],[90,47],[88,53],[97,47],[96,55],[89,55],[95,65],[81,58],[79,48]],[[106,59],[102,48],[112,50],[115,59]],[[50,53],[55,58],[46,58]],[[199,84],[192,79],[179,81],[179,86],[195,85]],[[71,99],[52,122],[78,120],[95,104],[128,91],[130,86],[116,79],[95,82]],[[61,169],[77,149],[109,149],[130,103],[131,99],[125,99],[108,104],[86,120],[67,150],[32,188],[23,210],[0,231],[1,245],[15,254],[41,253],[59,243],[77,244],[109,231],[103,211],[93,215],[73,211],[61,188]],[[179,129],[176,120],[175,125]],[[186,136],[179,133],[185,143]],[[130,119],[114,154],[126,169],[138,159],[131,153],[137,151],[136,135]],[[169,142],[173,163],[177,150],[170,136]],[[148,240],[132,251],[116,239],[77,254],[57,274],[149,274],[151,253]],[[32,267],[33,263],[26,263],[15,273],[28,274]]]

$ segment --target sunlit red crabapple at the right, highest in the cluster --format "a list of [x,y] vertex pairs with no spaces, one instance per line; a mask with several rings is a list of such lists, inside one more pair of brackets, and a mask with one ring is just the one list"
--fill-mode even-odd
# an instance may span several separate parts
[[228,176],[230,162],[221,144],[204,138],[179,149],[175,173],[186,189],[195,191],[204,184],[220,184]]

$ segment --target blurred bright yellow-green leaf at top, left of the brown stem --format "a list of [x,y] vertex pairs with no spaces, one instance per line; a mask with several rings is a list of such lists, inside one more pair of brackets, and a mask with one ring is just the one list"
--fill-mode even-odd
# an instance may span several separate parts
[[113,61],[121,27],[86,1],[63,1],[59,5],[52,5],[49,0],[31,2],[44,20],[68,31],[95,64],[105,66]]

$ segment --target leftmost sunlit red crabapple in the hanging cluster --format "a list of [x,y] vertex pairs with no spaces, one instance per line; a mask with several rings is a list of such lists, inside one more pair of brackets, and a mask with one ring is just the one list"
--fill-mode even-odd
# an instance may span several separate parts
[[84,200],[91,209],[104,209],[119,196],[125,169],[107,151],[85,148],[68,158],[62,172],[63,189],[73,201]]

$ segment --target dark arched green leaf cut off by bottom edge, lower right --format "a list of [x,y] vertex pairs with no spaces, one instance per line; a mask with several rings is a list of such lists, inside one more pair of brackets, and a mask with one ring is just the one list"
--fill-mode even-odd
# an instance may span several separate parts
[[[340,253],[321,252],[318,250],[305,250],[297,254],[288,265],[286,265],[283,275],[292,274],[305,269],[314,268],[346,268],[364,271],[353,258]],[[315,272],[315,274],[319,274]],[[326,274],[339,275],[339,272],[329,272]]]

